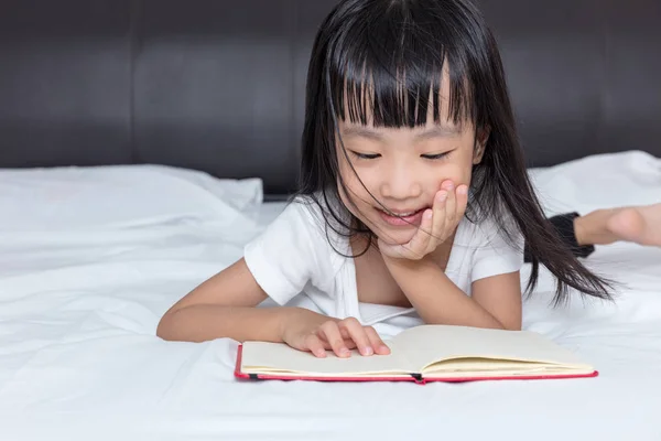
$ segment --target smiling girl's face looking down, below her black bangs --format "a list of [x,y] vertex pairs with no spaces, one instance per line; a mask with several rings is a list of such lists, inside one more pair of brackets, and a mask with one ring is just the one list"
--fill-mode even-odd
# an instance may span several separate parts
[[[442,118],[444,120],[447,118]],[[486,138],[478,133],[476,148],[475,129],[470,123],[436,125],[433,118],[427,121],[431,122],[426,127],[415,129],[348,122],[339,126],[346,148],[345,154],[337,143],[339,172],[356,206],[342,187],[340,197],[356,217],[388,244],[409,243],[420,226],[423,211],[432,207],[441,184],[451,180],[455,189],[469,185],[473,165],[481,159],[480,146]],[[409,223],[393,222],[368,191],[391,212],[418,214],[408,216]]]

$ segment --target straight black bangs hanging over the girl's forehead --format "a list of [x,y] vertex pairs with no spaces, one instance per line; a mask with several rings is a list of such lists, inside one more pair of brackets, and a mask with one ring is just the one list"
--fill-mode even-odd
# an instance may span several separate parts
[[477,123],[475,69],[465,40],[453,35],[447,20],[414,20],[414,10],[403,7],[343,25],[326,63],[335,123],[415,128],[429,118]]

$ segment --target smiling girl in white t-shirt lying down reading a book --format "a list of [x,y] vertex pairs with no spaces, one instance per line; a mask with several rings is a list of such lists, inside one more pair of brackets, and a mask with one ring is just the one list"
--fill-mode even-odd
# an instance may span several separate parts
[[[422,323],[519,330],[519,270],[610,298],[543,217],[496,42],[466,0],[344,0],[308,68],[300,194],[162,318],[165,340],[388,354]],[[267,298],[281,308],[256,308]]]

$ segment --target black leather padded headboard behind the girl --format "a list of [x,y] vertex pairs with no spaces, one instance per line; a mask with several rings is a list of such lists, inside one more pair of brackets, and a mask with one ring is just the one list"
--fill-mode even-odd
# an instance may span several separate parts
[[[295,185],[336,0],[3,0],[0,166],[162,163]],[[661,157],[659,0],[481,0],[531,165]]]

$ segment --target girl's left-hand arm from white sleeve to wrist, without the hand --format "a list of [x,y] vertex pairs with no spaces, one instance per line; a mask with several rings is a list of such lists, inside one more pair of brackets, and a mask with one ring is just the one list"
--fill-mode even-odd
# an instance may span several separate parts
[[247,245],[243,258],[176,302],[161,319],[156,335],[192,342],[220,337],[281,342],[282,323],[291,323],[297,309],[256,306],[268,295],[286,303],[310,279],[316,244],[304,215],[300,204],[285,207]]

